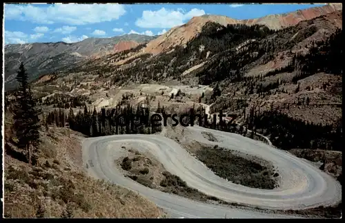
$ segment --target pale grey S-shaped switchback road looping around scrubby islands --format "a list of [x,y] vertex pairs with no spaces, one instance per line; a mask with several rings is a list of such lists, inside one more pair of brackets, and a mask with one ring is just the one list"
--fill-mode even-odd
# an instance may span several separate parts
[[[218,142],[210,142],[201,132],[213,134]],[[230,209],[217,204],[195,202],[177,195],[163,193],[126,178],[115,167],[114,160],[126,143],[139,151],[149,151],[167,171],[186,181],[188,186],[228,202],[259,206],[265,209],[307,209],[337,204],[342,200],[342,187],[331,176],[306,160],[286,151],[275,149],[238,134],[230,134],[203,127],[188,127],[188,140],[218,145],[248,153],[272,162],[279,173],[279,187],[273,190],[253,189],[233,184],[210,171],[202,162],[190,156],[177,142],[159,135],[115,135],[83,140],[83,162],[95,178],[110,180],[132,189],[155,202],[173,217],[288,217],[247,209]]]

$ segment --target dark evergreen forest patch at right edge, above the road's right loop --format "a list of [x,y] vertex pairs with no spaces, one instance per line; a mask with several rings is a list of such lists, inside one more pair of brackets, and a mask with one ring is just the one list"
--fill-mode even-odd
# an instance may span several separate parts
[[248,129],[270,138],[279,149],[311,148],[342,151],[342,125],[315,124],[292,118],[279,109],[260,111],[253,107],[246,117]]

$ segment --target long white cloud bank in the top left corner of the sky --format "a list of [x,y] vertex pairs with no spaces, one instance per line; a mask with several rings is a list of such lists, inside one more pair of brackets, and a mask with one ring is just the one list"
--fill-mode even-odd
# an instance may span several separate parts
[[32,23],[86,25],[113,21],[126,13],[119,4],[54,4],[48,7],[5,4],[5,18]]

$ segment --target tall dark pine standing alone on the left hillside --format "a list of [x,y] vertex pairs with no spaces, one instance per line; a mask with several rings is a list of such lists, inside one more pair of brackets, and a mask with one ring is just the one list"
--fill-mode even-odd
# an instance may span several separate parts
[[32,164],[34,153],[40,142],[39,114],[41,111],[36,107],[23,63],[19,66],[17,81],[19,87],[14,105],[14,130],[17,134],[18,147],[26,151],[27,160],[29,164]]

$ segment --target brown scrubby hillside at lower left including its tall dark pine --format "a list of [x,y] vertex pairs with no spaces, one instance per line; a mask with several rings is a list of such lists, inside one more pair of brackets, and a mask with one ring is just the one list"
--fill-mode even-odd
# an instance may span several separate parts
[[6,106],[4,216],[161,217],[155,204],[129,191],[86,176],[76,131],[44,126],[30,92],[26,70]]

